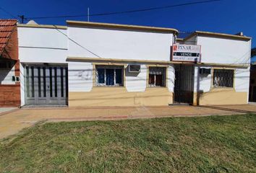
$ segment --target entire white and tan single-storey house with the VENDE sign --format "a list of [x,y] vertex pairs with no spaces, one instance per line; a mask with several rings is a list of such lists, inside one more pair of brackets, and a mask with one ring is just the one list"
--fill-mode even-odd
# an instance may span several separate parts
[[21,105],[247,104],[251,38],[67,21],[18,25]]

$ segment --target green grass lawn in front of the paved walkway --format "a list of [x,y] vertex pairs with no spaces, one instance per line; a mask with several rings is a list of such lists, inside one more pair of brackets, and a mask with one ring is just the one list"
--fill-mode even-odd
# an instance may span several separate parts
[[256,115],[38,124],[0,172],[256,172]]

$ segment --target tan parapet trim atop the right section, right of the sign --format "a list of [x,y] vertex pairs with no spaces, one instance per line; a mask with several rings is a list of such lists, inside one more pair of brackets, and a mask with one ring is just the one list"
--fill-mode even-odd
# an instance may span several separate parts
[[221,37],[221,38],[229,38],[229,39],[236,39],[236,40],[251,40],[251,37],[246,37],[242,35],[230,35],[230,34],[223,34],[218,32],[205,32],[205,31],[195,31],[191,35],[184,38],[184,41],[188,40],[191,37],[194,37],[195,35],[201,35],[201,36],[210,36],[210,37]]

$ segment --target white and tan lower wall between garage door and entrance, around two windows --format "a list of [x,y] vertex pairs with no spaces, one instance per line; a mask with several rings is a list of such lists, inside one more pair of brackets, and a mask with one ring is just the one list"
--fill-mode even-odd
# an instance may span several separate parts
[[[97,63],[95,63],[97,64]],[[174,68],[167,68],[166,87],[147,87],[148,66],[137,76],[127,73],[124,86],[95,86],[94,63],[69,62],[69,107],[153,106],[173,103]]]

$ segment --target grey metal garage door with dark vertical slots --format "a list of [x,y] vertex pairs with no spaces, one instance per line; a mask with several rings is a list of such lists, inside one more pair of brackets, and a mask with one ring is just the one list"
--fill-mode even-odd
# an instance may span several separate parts
[[67,66],[25,66],[25,105],[67,105]]

